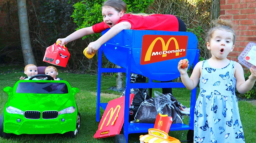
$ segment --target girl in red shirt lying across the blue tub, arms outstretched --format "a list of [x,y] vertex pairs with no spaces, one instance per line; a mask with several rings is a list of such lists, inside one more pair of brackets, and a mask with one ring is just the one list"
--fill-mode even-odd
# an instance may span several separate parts
[[[102,44],[113,38],[124,29],[133,30],[163,30],[163,31],[186,31],[186,25],[173,15],[138,15],[126,13],[127,6],[122,0],[107,0],[102,6],[103,22],[91,27],[85,27],[70,34],[66,38],[57,39],[60,45],[67,44],[83,36],[101,33],[107,28],[111,28],[98,40],[90,42],[87,53],[92,55]],[[56,41],[56,42],[57,42]]]

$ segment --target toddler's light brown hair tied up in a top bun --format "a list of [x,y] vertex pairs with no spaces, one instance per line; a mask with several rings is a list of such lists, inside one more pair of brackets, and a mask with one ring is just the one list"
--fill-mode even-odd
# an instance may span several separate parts
[[213,27],[212,29],[209,30],[207,37],[206,37],[206,42],[210,42],[210,39],[212,39],[212,34],[216,31],[216,30],[225,30],[226,32],[231,32],[233,33],[233,45],[235,45],[235,40],[236,40],[236,34],[234,29],[232,28],[233,25],[230,21],[224,20],[224,19],[216,19],[213,21],[213,24],[215,25],[215,27]]

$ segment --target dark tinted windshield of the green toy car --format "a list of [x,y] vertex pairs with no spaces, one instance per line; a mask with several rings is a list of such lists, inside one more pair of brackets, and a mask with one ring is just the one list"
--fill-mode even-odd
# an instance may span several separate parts
[[16,93],[64,94],[68,93],[68,87],[65,83],[20,82]]

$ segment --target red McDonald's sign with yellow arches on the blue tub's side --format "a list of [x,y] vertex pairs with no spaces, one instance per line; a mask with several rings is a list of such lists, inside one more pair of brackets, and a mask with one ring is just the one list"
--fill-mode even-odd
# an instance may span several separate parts
[[144,35],[140,64],[185,57],[187,41],[188,36]]

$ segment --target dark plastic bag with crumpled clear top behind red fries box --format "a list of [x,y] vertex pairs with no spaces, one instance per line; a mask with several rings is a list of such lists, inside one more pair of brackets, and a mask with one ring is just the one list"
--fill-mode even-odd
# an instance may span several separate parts
[[140,104],[135,115],[134,123],[155,123],[158,113],[167,114],[173,119],[172,124],[183,123],[180,115],[177,114],[174,105],[176,101],[171,100],[171,94],[163,95],[158,91],[154,91],[154,98],[150,98]]

